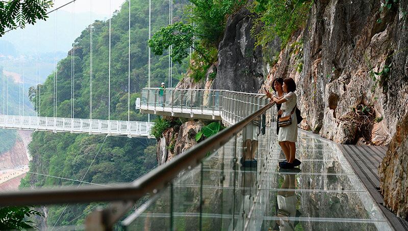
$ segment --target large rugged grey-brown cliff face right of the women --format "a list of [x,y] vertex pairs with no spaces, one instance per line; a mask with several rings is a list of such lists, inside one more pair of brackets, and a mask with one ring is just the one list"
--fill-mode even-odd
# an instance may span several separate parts
[[266,84],[294,78],[302,127],[340,143],[361,137],[344,120],[351,108],[372,105],[376,120],[368,141],[388,145],[408,111],[407,5],[398,1],[380,10],[380,1],[315,1]]

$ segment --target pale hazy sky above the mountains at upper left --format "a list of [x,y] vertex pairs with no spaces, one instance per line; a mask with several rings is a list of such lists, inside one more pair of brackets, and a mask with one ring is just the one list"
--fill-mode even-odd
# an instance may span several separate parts
[[[48,11],[71,1],[55,0],[53,8]],[[0,38],[0,42],[2,40],[8,41],[18,52],[24,54],[37,53],[39,50],[42,52],[67,52],[73,39],[77,38],[91,24],[91,3],[92,21],[107,20],[115,10],[120,9],[124,0],[77,0],[48,14],[46,21],[40,20],[35,25],[27,25],[22,30],[17,29],[6,33]],[[72,31],[72,12],[75,13],[74,31]],[[55,29],[56,26],[57,29]]]

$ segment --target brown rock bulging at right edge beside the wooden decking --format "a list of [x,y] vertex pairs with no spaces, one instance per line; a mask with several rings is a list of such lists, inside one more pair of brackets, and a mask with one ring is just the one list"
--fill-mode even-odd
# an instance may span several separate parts
[[378,168],[384,204],[408,220],[408,113],[398,124],[385,158]]

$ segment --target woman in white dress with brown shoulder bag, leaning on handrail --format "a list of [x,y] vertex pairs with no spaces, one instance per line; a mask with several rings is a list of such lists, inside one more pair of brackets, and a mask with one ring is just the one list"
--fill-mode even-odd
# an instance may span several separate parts
[[293,168],[300,165],[300,161],[296,159],[296,142],[297,142],[297,119],[295,109],[297,104],[296,83],[292,78],[285,78],[282,85],[284,96],[282,98],[272,97],[276,104],[282,104],[281,110],[278,113],[282,114],[282,118],[290,116],[291,123],[288,126],[280,127],[277,135],[279,145],[284,151],[286,161],[279,163],[281,168]]

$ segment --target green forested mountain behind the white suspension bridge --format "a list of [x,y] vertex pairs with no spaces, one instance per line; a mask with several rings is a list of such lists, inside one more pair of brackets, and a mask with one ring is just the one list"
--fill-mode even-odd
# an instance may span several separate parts
[[[174,20],[181,20],[182,3],[173,5]],[[130,120],[143,121],[146,115],[135,111],[135,99],[140,89],[147,86],[147,39],[148,3],[132,0],[131,3],[131,70],[130,70]],[[168,1],[152,1],[152,33],[168,24]],[[129,2],[114,13],[111,19],[111,97],[110,119],[127,120],[128,49],[129,49]],[[90,99],[90,29],[92,28],[92,118],[108,119],[109,78],[109,20],[95,21],[81,36],[75,39],[74,52],[68,51],[65,59],[58,63],[58,72],[50,73],[38,88],[30,90],[33,105],[38,105],[41,93],[41,116],[54,116],[54,76],[57,74],[57,117],[71,117],[71,79],[74,79],[74,117],[89,118]],[[74,54],[74,75],[71,78],[71,55]],[[168,56],[152,55],[151,86],[167,82]],[[186,72],[187,62],[173,65],[173,85],[181,72]],[[38,96],[38,95],[37,95]],[[28,174],[20,187],[58,187],[79,185],[79,181],[108,184],[131,182],[157,165],[156,140],[146,138],[107,137],[88,134],[35,132],[29,150],[33,156],[30,171],[60,178]],[[86,183],[81,183],[81,186]],[[90,205],[75,205],[41,208],[47,214],[42,225],[72,225],[83,223]],[[79,215],[83,215],[77,218]],[[61,217],[60,217],[61,216]],[[77,218],[77,219],[75,219]]]

